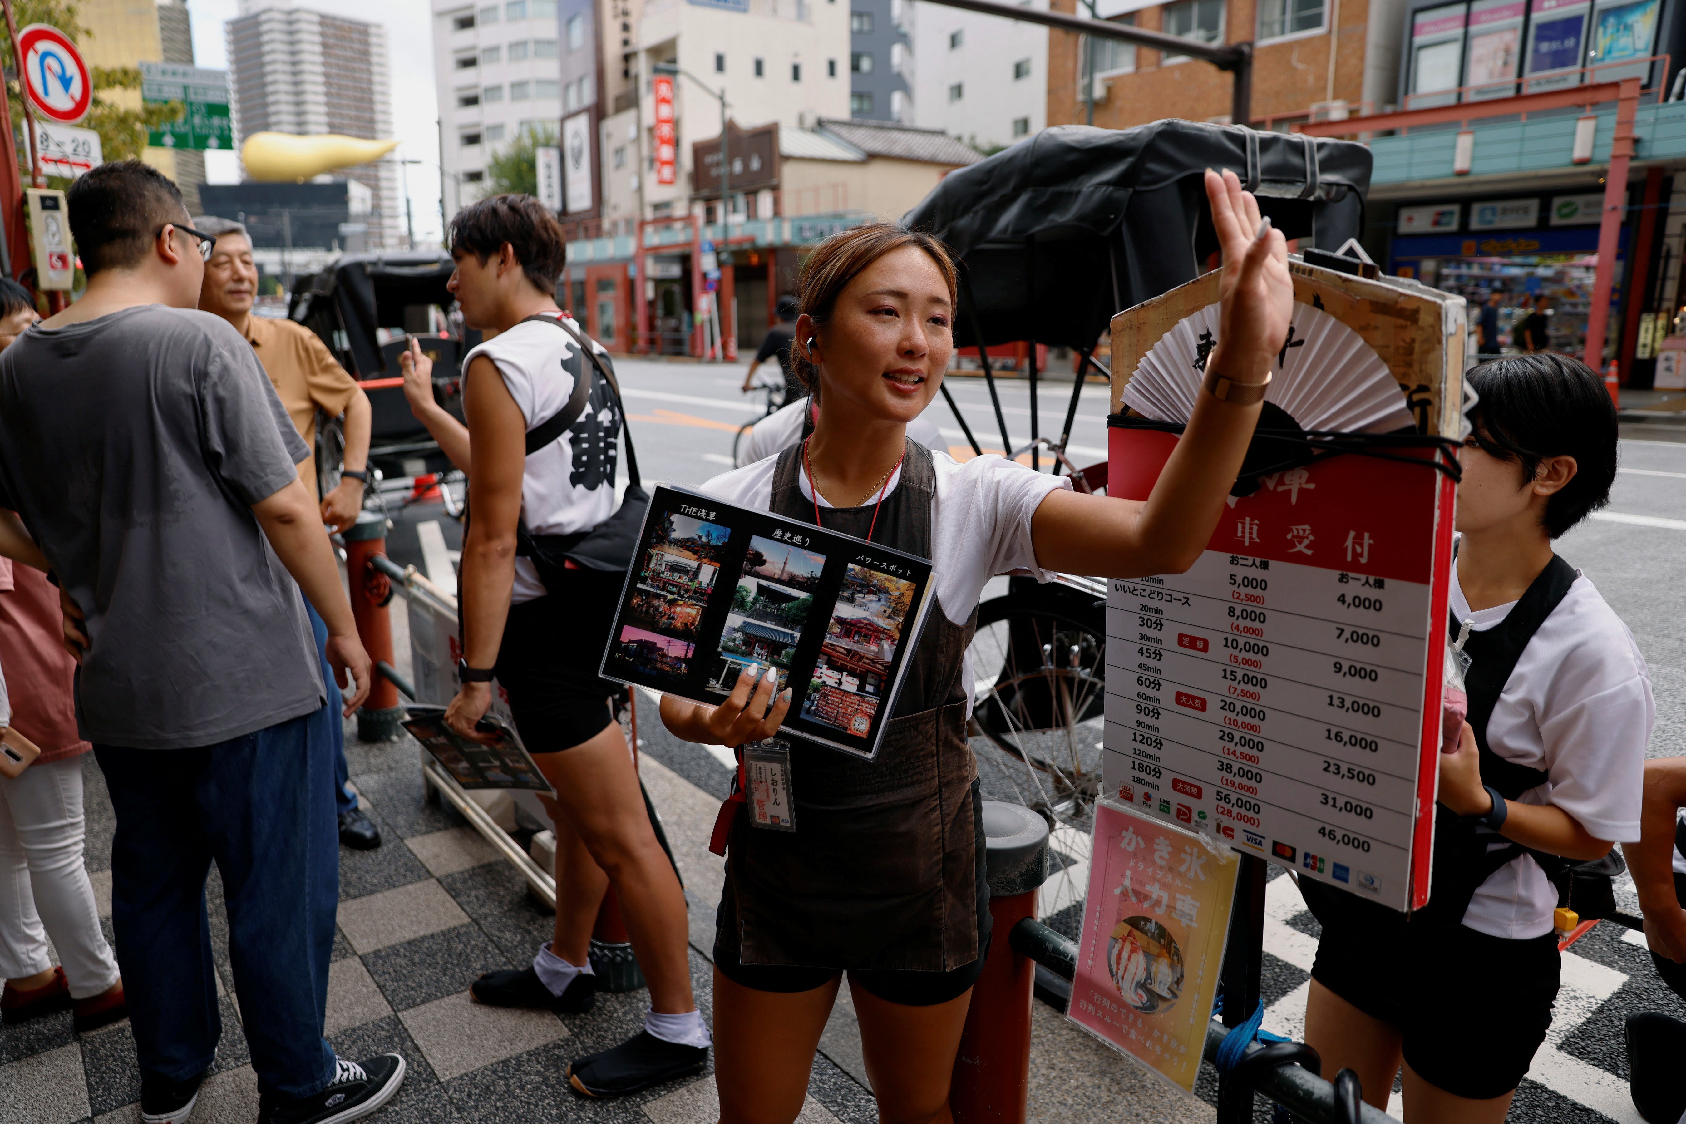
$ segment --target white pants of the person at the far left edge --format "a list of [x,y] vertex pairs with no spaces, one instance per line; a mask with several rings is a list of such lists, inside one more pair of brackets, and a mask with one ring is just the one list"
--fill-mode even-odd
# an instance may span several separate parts
[[83,864],[83,762],[35,762],[0,777],[0,979],[52,967],[52,937],[72,999],[118,981]]

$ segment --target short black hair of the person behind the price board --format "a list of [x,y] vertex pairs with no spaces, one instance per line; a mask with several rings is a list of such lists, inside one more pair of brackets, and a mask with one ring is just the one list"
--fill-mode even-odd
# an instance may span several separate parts
[[1506,356],[1463,376],[1480,396],[1470,421],[1492,457],[1528,480],[1548,457],[1573,457],[1575,479],[1546,500],[1546,534],[1561,536],[1610,502],[1615,484],[1615,404],[1580,359],[1553,352]]

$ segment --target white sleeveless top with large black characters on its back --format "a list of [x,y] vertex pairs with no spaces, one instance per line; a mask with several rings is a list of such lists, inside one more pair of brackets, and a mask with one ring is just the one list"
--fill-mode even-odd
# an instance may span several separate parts
[[[580,332],[573,317],[568,324]],[[590,337],[587,337],[590,339]],[[592,351],[609,367],[609,352],[592,340]],[[516,399],[531,431],[550,421],[568,404],[573,379],[590,361],[566,332],[548,324],[518,324],[486,340],[467,354],[462,369],[475,356],[486,356],[504,376],[509,396]],[[610,367],[612,369],[612,367]],[[595,376],[595,369],[590,371]],[[619,452],[620,411],[602,379],[593,377],[585,411],[555,442],[526,458],[521,477],[521,517],[533,534],[573,534],[588,531],[615,514],[615,453]],[[513,603],[545,597],[545,583],[526,558],[516,558]]]

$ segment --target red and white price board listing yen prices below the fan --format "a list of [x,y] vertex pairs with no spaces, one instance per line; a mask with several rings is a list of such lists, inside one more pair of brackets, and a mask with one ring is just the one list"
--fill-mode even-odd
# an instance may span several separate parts
[[[1109,436],[1108,494],[1146,499],[1179,438]],[[1109,794],[1396,910],[1428,900],[1455,485],[1421,457],[1266,475],[1189,573],[1108,583]]]

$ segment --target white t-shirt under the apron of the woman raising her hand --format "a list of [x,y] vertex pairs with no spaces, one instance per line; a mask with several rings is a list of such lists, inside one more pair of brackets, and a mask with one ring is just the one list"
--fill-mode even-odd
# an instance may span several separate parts
[[[1042,472],[1032,472],[1001,457],[975,457],[964,463],[942,452],[931,453],[936,470],[936,494],[931,499],[931,588],[942,605],[942,613],[954,625],[964,625],[971,610],[983,597],[985,583],[1008,570],[1028,570],[1039,581],[1049,581],[1054,571],[1037,566],[1037,551],[1030,541],[1030,517],[1049,492],[1071,489],[1071,480]],[[776,458],[767,458],[715,477],[703,492],[738,507],[767,511],[772,506],[772,470]],[[814,497],[808,474],[797,467],[803,495]],[[902,470],[892,474],[885,495],[902,482]],[[831,507],[819,497],[821,507]],[[961,671],[966,686],[966,713],[971,715],[973,676],[971,657]]]

